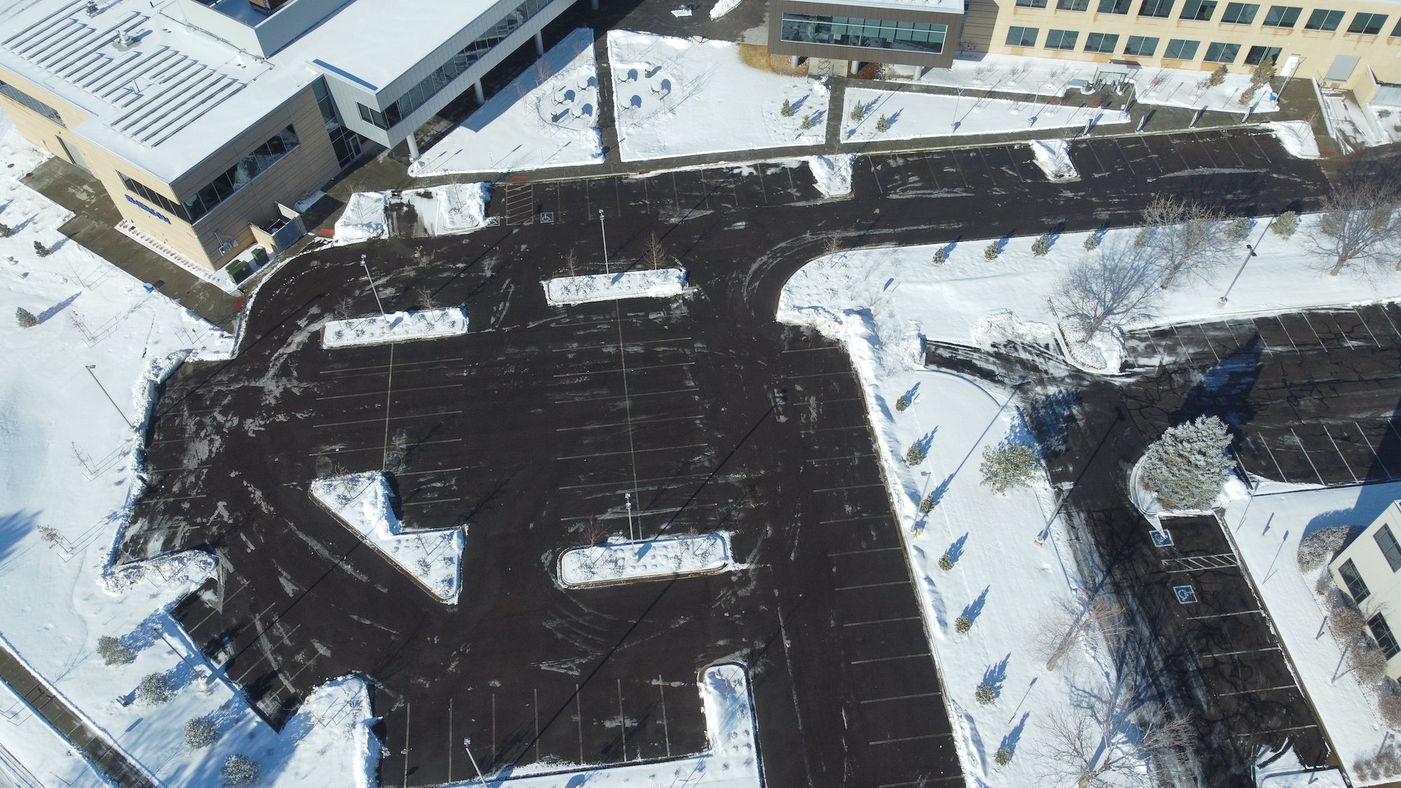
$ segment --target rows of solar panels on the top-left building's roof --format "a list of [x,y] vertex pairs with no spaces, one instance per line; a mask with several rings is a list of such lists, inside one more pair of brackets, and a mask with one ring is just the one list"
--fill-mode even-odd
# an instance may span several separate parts
[[[158,146],[244,88],[245,83],[168,45],[146,46],[150,17],[113,10],[88,15],[69,3],[4,39],[3,46],[116,109],[106,125]],[[129,36],[130,45],[119,43]]]

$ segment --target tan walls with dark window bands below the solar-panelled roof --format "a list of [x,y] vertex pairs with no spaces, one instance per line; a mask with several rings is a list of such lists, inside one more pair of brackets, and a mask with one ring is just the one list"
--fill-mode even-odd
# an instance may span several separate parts
[[[27,140],[88,170],[102,182],[102,186],[112,196],[123,219],[130,220],[143,233],[161,240],[172,250],[212,269],[221,268],[242,250],[256,243],[249,223],[262,224],[276,219],[279,213],[273,205],[275,202],[291,202],[303,193],[321,186],[340,170],[335,150],[331,147],[331,137],[325,132],[317,98],[310,86],[283,107],[269,112],[230,144],[177,178],[174,184],[167,184],[133,163],[118,158],[105,149],[91,144],[78,136],[73,129],[88,121],[90,115],[87,112],[57,100],[42,87],[28,83],[3,69],[0,69],[0,80],[53,107],[63,118],[64,126],[59,126],[43,115],[0,97],[0,105],[14,119],[15,128]],[[202,216],[195,224],[189,224],[160,205],[153,205],[140,195],[129,192],[122,184],[120,174],[125,174],[153,192],[178,203],[182,198],[198,192],[214,177],[233,167],[249,151],[268,142],[269,137],[275,136],[289,123],[297,132],[298,146],[221,202],[214,210]],[[73,151],[77,153],[76,157],[71,156]],[[130,203],[126,199],[127,195],[170,217],[170,223],[167,224]],[[233,248],[221,255],[219,251],[220,245],[230,240],[234,243]]]

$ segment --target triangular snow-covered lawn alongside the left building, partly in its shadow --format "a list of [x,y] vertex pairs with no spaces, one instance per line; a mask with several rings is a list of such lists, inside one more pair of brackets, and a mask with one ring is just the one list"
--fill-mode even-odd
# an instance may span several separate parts
[[602,160],[594,32],[570,32],[409,165],[409,175],[518,171]]

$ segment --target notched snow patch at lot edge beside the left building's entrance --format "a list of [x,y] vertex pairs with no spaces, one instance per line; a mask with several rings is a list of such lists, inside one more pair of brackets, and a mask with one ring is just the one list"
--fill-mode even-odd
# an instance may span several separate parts
[[[389,212],[408,212],[427,236],[458,236],[481,230],[486,219],[490,184],[447,184],[406,192],[356,192],[336,219],[336,243],[354,244],[382,238],[389,231]],[[406,230],[406,229],[405,229]]]

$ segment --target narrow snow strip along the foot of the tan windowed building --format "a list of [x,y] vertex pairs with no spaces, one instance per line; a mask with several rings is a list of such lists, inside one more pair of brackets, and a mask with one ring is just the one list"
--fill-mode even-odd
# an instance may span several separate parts
[[[909,79],[915,69],[897,66],[895,73]],[[1250,74],[1226,74],[1219,86],[1209,84],[1210,73],[1198,69],[1135,69],[1117,63],[1090,63],[1054,57],[985,55],[978,60],[955,59],[950,69],[929,69],[918,81],[946,87],[1062,95],[1080,94],[1080,86],[1093,84],[1098,74],[1114,83],[1115,74],[1128,74],[1135,100],[1140,104],[1244,112],[1240,94],[1250,88]],[[1279,107],[1265,90],[1255,94],[1254,112],[1275,112]]]

